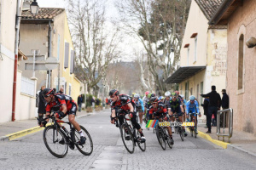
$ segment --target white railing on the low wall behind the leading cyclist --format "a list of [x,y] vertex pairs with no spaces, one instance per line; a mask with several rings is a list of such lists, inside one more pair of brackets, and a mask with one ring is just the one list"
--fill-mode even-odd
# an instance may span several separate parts
[[27,77],[21,77],[20,93],[35,96],[35,81]]

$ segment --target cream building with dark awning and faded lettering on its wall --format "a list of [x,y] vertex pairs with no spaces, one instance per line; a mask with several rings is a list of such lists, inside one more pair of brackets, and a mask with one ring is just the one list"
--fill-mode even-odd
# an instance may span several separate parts
[[178,83],[180,94],[185,99],[226,87],[227,26],[209,26],[207,23],[222,0],[195,0],[191,2],[189,17],[180,52],[180,65],[167,83]]

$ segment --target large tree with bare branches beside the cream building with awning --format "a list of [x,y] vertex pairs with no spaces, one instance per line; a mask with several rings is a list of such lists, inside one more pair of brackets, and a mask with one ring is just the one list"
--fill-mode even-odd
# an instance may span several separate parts
[[155,90],[166,91],[164,81],[176,69],[189,14],[190,0],[122,0],[117,3],[123,28],[147,51]]

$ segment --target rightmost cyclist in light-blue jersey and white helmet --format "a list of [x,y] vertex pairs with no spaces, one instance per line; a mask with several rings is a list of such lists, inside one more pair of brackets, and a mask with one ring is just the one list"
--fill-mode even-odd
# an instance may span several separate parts
[[[189,113],[195,113],[195,114],[191,114],[191,119],[195,117],[195,126],[197,126],[197,117],[196,117],[196,113],[199,113],[199,116],[201,117],[201,113],[199,111],[199,106],[197,101],[195,100],[195,96],[191,95],[189,97],[189,101],[186,104],[186,115],[187,118],[189,118]],[[197,128],[196,128],[196,134],[197,134]]]

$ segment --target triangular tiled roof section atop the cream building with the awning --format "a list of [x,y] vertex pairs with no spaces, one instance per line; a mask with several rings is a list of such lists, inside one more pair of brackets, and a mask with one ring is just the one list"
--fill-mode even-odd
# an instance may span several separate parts
[[207,17],[207,20],[212,18],[212,15],[217,11],[223,1],[224,0],[195,0],[203,14]]

